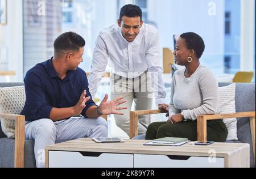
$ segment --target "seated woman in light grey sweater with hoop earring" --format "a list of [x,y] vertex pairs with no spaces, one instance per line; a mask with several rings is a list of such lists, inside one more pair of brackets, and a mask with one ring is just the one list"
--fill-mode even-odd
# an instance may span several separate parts
[[[212,71],[200,65],[204,41],[196,33],[183,33],[174,52],[177,65],[172,78],[171,104],[167,122],[154,122],[147,128],[146,139],[181,137],[197,140],[197,116],[218,113],[218,83]],[[228,135],[222,120],[207,122],[207,139],[225,142]]]

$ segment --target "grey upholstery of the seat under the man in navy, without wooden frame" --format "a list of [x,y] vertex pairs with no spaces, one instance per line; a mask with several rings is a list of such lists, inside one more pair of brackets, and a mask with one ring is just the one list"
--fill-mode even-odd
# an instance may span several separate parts
[[[0,83],[0,87],[23,86],[23,83]],[[3,134],[0,122],[0,168],[12,168],[15,156],[15,139],[8,139]],[[24,144],[24,167],[36,167],[34,155],[34,140],[25,140]]]

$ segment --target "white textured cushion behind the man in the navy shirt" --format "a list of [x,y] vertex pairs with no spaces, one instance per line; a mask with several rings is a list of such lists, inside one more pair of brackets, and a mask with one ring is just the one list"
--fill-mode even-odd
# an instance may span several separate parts
[[[0,113],[20,114],[26,101],[24,86],[0,88]],[[1,126],[8,138],[14,138],[15,120],[3,119]]]

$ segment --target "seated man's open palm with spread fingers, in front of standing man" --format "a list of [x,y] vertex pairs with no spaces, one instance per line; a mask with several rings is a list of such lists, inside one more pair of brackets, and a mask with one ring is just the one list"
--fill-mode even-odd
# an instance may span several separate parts
[[119,105],[126,103],[126,101],[123,98],[124,97],[118,97],[117,99],[114,99],[112,101],[107,101],[108,94],[106,94],[99,106],[101,114],[102,115],[109,115],[109,114],[123,115],[123,113],[118,112],[118,110],[127,109],[127,107],[118,107]]

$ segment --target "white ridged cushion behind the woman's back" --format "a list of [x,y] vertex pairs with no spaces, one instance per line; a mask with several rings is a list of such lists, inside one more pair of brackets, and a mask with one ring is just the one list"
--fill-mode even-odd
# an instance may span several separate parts
[[[221,114],[236,113],[236,84],[218,88],[218,109]],[[226,140],[237,140],[237,119],[226,118],[223,120],[227,129],[228,137]]]

